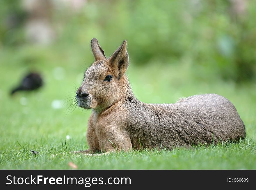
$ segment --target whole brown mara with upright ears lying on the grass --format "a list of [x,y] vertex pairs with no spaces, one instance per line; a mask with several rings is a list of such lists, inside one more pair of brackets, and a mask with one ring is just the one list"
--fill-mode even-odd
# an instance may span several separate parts
[[109,58],[97,39],[91,46],[95,62],[77,91],[78,105],[92,109],[87,129],[90,148],[75,153],[173,149],[245,137],[243,121],[228,99],[204,94],[175,104],[145,104],[136,99],[125,75],[126,41]]

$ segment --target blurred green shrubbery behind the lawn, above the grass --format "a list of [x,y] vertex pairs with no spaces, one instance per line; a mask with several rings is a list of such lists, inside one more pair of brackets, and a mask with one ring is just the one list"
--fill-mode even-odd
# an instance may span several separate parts
[[35,44],[55,47],[56,57],[62,52],[58,62],[74,59],[75,67],[84,58],[90,64],[89,42],[96,37],[108,55],[127,39],[133,65],[178,62],[196,68],[201,79],[255,78],[255,1],[23,0],[0,7],[1,51],[32,48],[19,60],[26,66],[49,56]]

